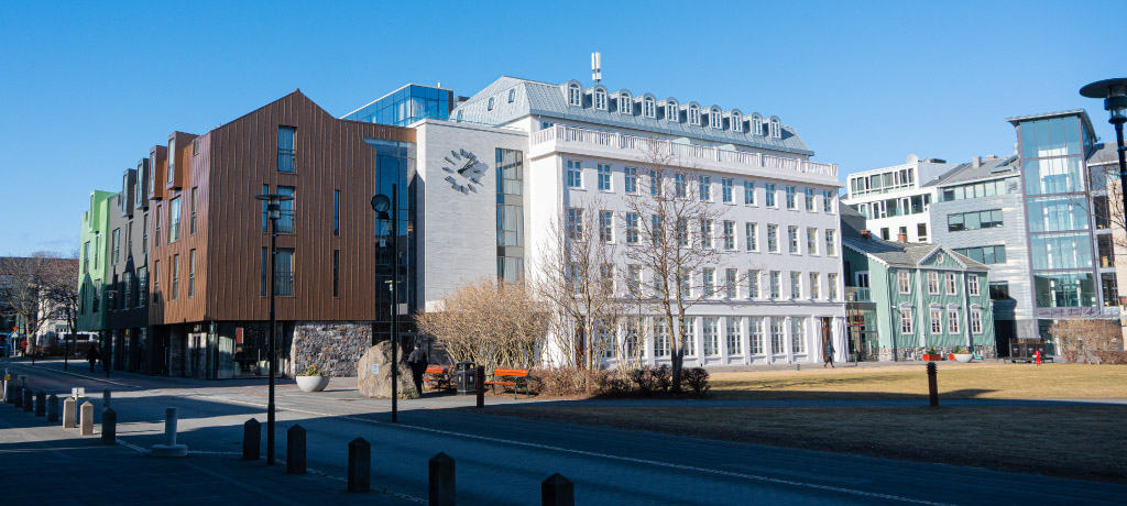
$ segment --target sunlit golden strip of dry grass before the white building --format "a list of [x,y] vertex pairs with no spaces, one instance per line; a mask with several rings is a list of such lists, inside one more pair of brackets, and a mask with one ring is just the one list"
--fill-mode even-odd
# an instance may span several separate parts
[[[940,364],[940,398],[1108,399],[1127,397],[1127,367],[1085,364]],[[717,399],[913,399],[926,397],[922,365],[717,372]]]

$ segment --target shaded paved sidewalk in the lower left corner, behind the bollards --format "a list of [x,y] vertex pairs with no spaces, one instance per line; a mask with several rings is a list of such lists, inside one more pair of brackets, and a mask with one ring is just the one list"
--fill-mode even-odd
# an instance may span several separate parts
[[0,465],[6,506],[421,503],[381,490],[349,494],[344,477],[286,474],[284,462],[270,468],[233,452],[158,459],[128,444],[104,446],[97,435],[79,436],[11,405],[0,406]]

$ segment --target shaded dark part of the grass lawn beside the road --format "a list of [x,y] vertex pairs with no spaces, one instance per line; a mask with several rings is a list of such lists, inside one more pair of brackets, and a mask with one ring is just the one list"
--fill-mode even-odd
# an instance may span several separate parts
[[1127,482],[1127,407],[490,407],[494,415]]

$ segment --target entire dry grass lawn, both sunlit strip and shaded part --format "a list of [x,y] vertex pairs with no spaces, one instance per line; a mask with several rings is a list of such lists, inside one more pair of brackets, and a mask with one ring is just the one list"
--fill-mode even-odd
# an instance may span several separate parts
[[[1127,482],[1127,406],[943,407],[942,399],[1127,397],[1127,367],[939,364],[941,406],[494,406],[488,412],[713,440]],[[922,365],[717,372],[716,399],[925,399]]]

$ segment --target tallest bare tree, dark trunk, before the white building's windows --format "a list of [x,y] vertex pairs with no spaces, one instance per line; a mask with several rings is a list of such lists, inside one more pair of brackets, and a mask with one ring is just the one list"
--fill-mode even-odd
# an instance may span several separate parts
[[734,252],[729,246],[735,237],[734,231],[725,230],[722,206],[710,202],[711,185],[702,179],[708,175],[682,163],[659,142],[647,143],[640,162],[639,189],[624,199],[627,233],[636,237],[627,241],[622,255],[631,270],[631,290],[640,285],[639,269],[653,273],[650,296],[638,301],[663,319],[655,322],[663,329],[655,330],[655,338],[662,339],[666,332],[671,337],[673,389],[680,391],[689,309],[706,300],[722,300],[718,294],[730,292],[746,276],[738,269],[731,276],[729,269],[721,282],[717,273]]

